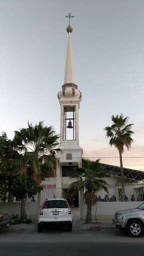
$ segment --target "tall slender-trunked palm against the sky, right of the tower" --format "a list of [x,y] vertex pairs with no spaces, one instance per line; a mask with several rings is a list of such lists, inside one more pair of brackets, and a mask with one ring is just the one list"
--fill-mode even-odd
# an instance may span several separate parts
[[110,146],[114,145],[119,152],[120,159],[120,172],[121,172],[121,186],[122,194],[124,196],[124,174],[122,165],[122,153],[124,151],[124,146],[127,150],[130,149],[133,139],[131,135],[134,133],[131,130],[133,123],[128,124],[128,116],[124,117],[123,114],[112,115],[111,120],[113,124],[111,126],[106,126],[104,130],[106,131],[106,136],[109,138]]

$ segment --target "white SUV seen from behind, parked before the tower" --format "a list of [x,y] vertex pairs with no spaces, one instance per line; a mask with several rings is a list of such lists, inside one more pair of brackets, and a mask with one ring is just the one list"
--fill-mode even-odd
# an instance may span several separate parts
[[51,225],[66,227],[67,231],[72,230],[72,214],[65,198],[48,198],[40,209],[38,216],[38,232],[42,228]]

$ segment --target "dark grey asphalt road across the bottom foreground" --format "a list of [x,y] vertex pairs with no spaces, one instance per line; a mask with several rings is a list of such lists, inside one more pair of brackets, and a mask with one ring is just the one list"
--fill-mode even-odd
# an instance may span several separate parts
[[143,241],[119,230],[4,230],[0,256],[143,256]]

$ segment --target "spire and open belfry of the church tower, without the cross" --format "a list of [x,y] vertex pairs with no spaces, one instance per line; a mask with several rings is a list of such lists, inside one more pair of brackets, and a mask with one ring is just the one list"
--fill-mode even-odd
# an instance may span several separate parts
[[[70,15],[70,14],[69,14]],[[74,79],[74,67],[72,57],[72,47],[70,33],[72,27],[66,27],[68,33],[68,45],[65,65],[64,84],[62,90],[58,92],[58,100],[60,103],[60,147],[63,150],[78,150],[81,154],[79,146],[79,128],[78,128],[78,109],[80,107],[81,92],[78,90]]]

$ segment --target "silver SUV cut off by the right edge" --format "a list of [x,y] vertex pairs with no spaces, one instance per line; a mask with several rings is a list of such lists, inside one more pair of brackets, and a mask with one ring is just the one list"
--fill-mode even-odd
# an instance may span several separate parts
[[144,232],[144,203],[137,208],[116,211],[112,221],[116,228],[126,229],[130,236],[141,236]]

